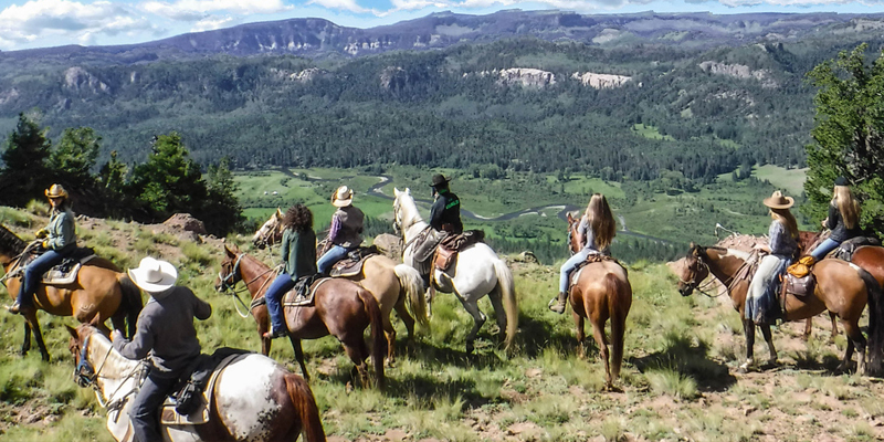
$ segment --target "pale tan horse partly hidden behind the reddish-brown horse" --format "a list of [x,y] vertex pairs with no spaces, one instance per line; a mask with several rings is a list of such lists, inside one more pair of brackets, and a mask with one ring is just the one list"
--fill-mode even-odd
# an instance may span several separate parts
[[[273,245],[282,240],[282,212],[276,209],[273,215],[255,232],[252,242],[255,245]],[[406,324],[408,337],[414,336],[414,318],[421,326],[427,325],[427,302],[423,298],[423,281],[421,274],[406,264],[397,264],[385,255],[371,255],[362,263],[362,270],[355,275],[341,276],[361,284],[375,295],[383,317],[383,334],[387,336],[387,361],[392,364],[396,350],[396,328],[390,322],[393,309]],[[406,306],[408,302],[408,307]]]

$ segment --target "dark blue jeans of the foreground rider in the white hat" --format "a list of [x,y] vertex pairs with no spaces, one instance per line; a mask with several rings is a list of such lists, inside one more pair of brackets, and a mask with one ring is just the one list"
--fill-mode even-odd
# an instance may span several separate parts
[[157,411],[171,392],[176,381],[178,381],[178,373],[166,373],[151,369],[147,375],[147,379],[141,383],[141,389],[138,390],[129,409],[131,430],[136,441],[162,442]]

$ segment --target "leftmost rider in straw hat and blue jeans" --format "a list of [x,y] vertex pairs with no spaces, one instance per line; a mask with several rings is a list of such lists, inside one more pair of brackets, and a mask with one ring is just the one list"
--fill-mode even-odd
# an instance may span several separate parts
[[44,193],[52,207],[49,225],[38,230],[34,236],[43,240],[41,245],[45,252],[24,269],[24,278],[19,288],[19,296],[15,298],[15,303],[9,307],[9,312],[13,314],[34,311],[34,295],[43,273],[61,263],[65,256],[76,250],[75,217],[71,211],[67,191],[62,185],[56,183],[46,189]]

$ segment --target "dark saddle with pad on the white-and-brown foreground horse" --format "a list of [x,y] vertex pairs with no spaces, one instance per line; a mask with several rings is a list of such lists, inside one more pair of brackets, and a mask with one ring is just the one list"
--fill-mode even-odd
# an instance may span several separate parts
[[221,370],[250,351],[222,347],[211,356],[197,357],[172,393],[160,408],[160,422],[171,425],[196,425],[209,421],[212,390]]

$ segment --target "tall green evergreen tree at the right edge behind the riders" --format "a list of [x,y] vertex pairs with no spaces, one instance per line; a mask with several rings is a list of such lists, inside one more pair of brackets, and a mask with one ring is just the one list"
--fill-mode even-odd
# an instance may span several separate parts
[[884,51],[869,66],[866,44],[843,51],[814,67],[808,77],[820,87],[813,143],[806,147],[810,203],[802,212],[814,221],[825,217],[836,177],[844,176],[862,202],[861,223],[884,232]]

